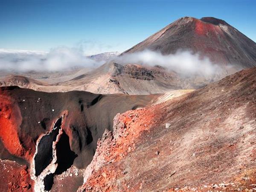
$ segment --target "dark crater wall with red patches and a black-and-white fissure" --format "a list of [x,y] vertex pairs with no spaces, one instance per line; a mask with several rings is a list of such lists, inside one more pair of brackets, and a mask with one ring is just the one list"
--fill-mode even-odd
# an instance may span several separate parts
[[97,140],[105,129],[112,130],[116,113],[144,107],[157,98],[2,87],[0,189],[76,191]]

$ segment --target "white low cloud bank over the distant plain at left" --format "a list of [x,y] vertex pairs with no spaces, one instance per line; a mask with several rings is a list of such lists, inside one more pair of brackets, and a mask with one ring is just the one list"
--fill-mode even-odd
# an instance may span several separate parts
[[99,67],[104,61],[87,57],[82,49],[58,47],[49,52],[0,49],[0,70],[61,71],[73,67]]

